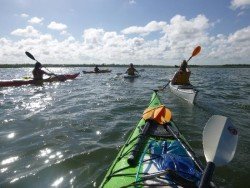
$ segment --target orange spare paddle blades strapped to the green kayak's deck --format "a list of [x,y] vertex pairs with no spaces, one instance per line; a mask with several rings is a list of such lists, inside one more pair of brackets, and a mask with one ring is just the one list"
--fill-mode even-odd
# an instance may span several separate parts
[[147,108],[142,116],[144,120],[153,119],[159,124],[169,122],[171,120],[171,117],[171,111],[163,105],[156,108]]

